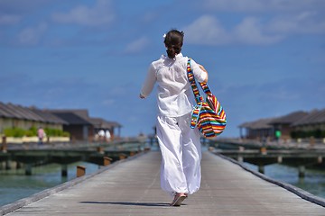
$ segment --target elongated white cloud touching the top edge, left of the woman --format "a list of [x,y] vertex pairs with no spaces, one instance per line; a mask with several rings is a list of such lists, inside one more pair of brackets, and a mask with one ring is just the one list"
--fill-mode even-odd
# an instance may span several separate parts
[[52,14],[52,19],[57,23],[101,26],[112,23],[115,19],[115,14],[112,9],[111,1],[98,0],[97,4],[92,8],[85,5],[79,5],[67,14]]

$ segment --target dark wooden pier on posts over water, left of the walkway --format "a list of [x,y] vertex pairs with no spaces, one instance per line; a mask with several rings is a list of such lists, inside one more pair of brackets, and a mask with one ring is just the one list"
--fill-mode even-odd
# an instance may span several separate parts
[[105,158],[115,162],[121,158],[133,156],[144,150],[145,142],[66,144],[66,145],[37,145],[37,143],[16,145],[14,148],[0,151],[0,170],[13,169],[23,166],[26,175],[32,175],[32,167],[56,163],[61,165],[61,175],[68,174],[68,165],[85,161],[98,166],[105,165]]

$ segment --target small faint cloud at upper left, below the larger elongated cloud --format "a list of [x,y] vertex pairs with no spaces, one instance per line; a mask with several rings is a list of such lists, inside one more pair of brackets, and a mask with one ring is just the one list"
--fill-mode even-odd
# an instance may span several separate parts
[[34,28],[25,28],[18,35],[18,40],[23,45],[36,45],[41,40],[47,28],[47,23],[40,23]]

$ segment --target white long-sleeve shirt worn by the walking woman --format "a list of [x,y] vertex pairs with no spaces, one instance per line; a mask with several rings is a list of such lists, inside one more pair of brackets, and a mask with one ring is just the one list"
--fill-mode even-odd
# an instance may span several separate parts
[[[187,76],[188,57],[180,53],[175,58],[162,56],[148,69],[141,94],[146,97],[157,83],[157,104],[160,115],[178,117],[191,112],[194,96]],[[190,66],[197,82],[203,82],[207,73],[191,59]]]

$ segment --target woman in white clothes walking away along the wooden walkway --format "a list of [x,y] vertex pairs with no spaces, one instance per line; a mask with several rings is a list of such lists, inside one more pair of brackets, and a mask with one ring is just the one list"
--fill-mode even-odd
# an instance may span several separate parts
[[[188,57],[181,54],[184,33],[172,30],[164,36],[167,56],[150,65],[140,98],[157,84],[157,138],[162,152],[161,186],[173,196],[172,206],[181,206],[188,194],[200,189],[201,143],[199,130],[190,129],[194,96],[188,80]],[[199,82],[208,81],[204,67],[190,60]]]

